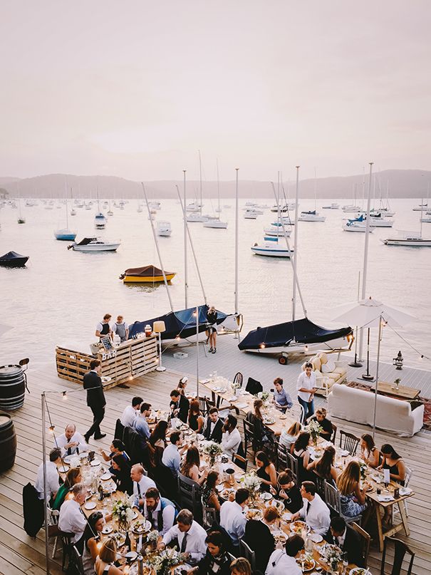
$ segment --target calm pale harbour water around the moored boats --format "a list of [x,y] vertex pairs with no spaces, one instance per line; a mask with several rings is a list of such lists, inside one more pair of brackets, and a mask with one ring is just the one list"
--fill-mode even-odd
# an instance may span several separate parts
[[[269,203],[270,200],[263,200]],[[323,200],[327,204],[331,200]],[[204,212],[212,212],[207,200]],[[350,203],[340,201],[340,204]],[[395,229],[418,229],[419,214],[412,212],[416,200],[393,200]],[[234,200],[224,209],[222,219],[227,230],[207,229],[189,224],[197,252],[199,269],[210,304],[228,313],[234,311]],[[241,202],[241,207],[245,200]],[[302,200],[301,209],[313,209],[313,200]],[[76,209],[69,217],[77,239],[95,236],[92,210]],[[1,337],[0,365],[15,363],[24,356],[33,366],[53,361],[57,344],[81,341],[83,351],[95,340],[96,323],[103,314],[123,314],[128,323],[145,320],[170,311],[165,286],[126,286],[118,276],[128,267],[154,263],[157,252],[146,212],[137,212],[130,200],[124,210],[112,208],[104,239],[120,239],[116,253],[81,254],[66,249],[70,242],[58,242],[53,230],[65,227],[66,212],[61,209],[23,207],[26,224],[16,222],[18,209],[0,209],[0,253],[14,250],[30,256],[26,269],[0,268],[0,323],[14,329]],[[287,321],[291,317],[292,270],[289,260],[255,256],[250,250],[263,239],[263,228],[276,219],[265,210],[256,220],[243,219],[239,232],[239,311],[244,314],[244,331],[256,326]],[[363,266],[365,234],[343,232],[341,210],[321,210],[326,222],[298,224],[298,276],[306,302],[308,318],[331,326],[331,308],[356,299],[358,271]],[[177,271],[170,286],[175,309],[184,308],[184,257],[180,206],[164,200],[157,219],[172,224],[172,236],[160,238],[162,259],[167,271]],[[405,308],[417,319],[398,330],[413,346],[431,356],[431,248],[386,247],[380,238],[390,229],[377,228],[370,234],[367,294],[393,306]],[[431,235],[431,224],[423,224],[423,233]],[[293,232],[291,242],[293,244]],[[189,306],[203,302],[197,274],[189,251]],[[301,304],[297,304],[301,317]],[[373,348],[376,335],[372,334]],[[391,361],[403,351],[406,365],[429,369],[431,363],[420,360],[398,336],[385,328],[383,360]],[[240,352],[238,352],[240,353]]]

